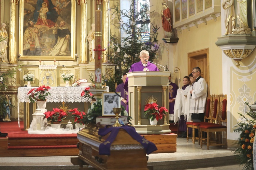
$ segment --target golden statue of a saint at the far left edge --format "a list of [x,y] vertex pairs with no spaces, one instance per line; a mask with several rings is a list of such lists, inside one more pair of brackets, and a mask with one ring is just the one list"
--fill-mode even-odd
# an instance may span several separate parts
[[0,28],[0,56],[2,62],[9,63],[7,59],[7,31],[5,30],[5,23],[1,24]]

